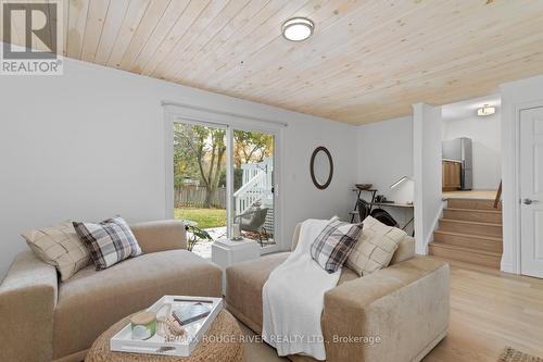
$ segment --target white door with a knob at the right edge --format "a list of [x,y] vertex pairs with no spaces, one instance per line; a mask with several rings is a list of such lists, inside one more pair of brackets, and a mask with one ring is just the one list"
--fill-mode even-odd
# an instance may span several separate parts
[[520,266],[543,277],[543,108],[520,112]]

